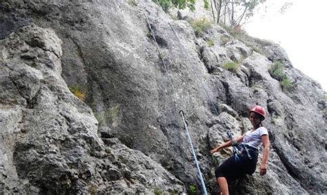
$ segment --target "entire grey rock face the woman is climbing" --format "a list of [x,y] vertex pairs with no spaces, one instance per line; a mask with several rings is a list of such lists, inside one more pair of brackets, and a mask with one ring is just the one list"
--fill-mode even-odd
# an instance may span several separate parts
[[[0,192],[179,194],[194,184],[200,193],[183,110],[215,194],[215,166],[230,151],[209,150],[226,130],[249,130],[255,104],[268,113],[268,173],[230,192],[326,192],[326,93],[278,45],[237,40],[218,25],[197,37],[152,1],[17,0],[0,9]],[[270,76],[275,60],[292,88]]]

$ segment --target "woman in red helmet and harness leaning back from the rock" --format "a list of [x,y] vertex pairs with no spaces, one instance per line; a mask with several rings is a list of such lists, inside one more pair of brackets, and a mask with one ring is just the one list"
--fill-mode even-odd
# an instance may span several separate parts
[[219,150],[232,146],[234,143],[240,143],[239,154],[224,161],[215,171],[217,183],[221,194],[228,194],[228,182],[234,181],[245,174],[253,174],[257,168],[259,146],[264,146],[264,154],[260,165],[260,175],[266,174],[267,161],[269,154],[268,130],[262,126],[261,121],[266,117],[266,111],[261,106],[254,106],[249,111],[249,119],[253,126],[246,134],[227,141],[221,146],[213,148],[210,153],[219,152]]

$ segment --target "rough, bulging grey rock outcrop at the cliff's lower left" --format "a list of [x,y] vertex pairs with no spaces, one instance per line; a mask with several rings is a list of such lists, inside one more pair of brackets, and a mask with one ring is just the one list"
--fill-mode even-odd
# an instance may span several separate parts
[[[41,37],[36,45],[32,34]],[[30,44],[26,46],[26,42]],[[144,154],[123,145],[110,149],[103,144],[92,111],[70,93],[60,76],[62,42],[54,32],[26,26],[3,43],[2,54],[12,55],[1,56],[1,82],[11,81],[16,89],[1,85],[3,97],[20,95],[27,103],[1,101],[1,192],[107,192],[110,182],[122,183],[126,177],[135,177],[139,183],[128,183],[114,192],[151,192],[154,186],[167,192],[186,191],[181,181]],[[30,58],[21,58],[22,48],[39,59],[29,62]],[[48,52],[54,55],[43,55]],[[128,174],[135,169],[128,161],[130,155],[143,155],[141,159],[146,160],[135,159],[139,168]]]

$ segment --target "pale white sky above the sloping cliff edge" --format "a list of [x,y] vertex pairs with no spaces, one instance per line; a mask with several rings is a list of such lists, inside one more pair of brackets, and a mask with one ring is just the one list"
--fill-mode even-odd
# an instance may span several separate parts
[[[279,43],[296,69],[327,91],[327,0],[267,0],[244,29]],[[280,8],[292,3],[284,13]]]

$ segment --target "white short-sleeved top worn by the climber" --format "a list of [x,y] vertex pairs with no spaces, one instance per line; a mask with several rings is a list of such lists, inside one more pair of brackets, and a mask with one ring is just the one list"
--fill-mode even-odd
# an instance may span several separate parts
[[268,130],[264,126],[261,126],[256,130],[253,130],[252,132],[250,130],[246,132],[246,135],[243,137],[243,142],[244,144],[252,148],[257,148],[257,150],[259,150],[259,146],[261,146],[262,144],[262,135],[268,135]]

